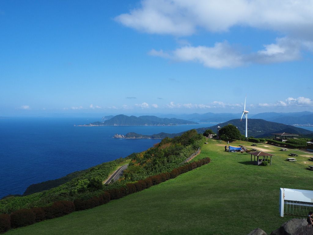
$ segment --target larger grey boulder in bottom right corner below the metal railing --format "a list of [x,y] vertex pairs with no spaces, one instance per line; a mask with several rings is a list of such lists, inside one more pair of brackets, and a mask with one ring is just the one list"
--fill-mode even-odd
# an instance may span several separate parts
[[311,235],[313,227],[308,226],[306,219],[292,219],[281,225],[280,228],[273,231],[270,235]]

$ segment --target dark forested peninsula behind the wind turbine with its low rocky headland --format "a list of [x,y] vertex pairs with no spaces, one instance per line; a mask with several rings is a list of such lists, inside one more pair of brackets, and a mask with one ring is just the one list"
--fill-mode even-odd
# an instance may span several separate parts
[[[233,124],[236,126],[241,134],[245,134],[245,121],[240,121],[240,119],[233,119],[229,120],[224,123],[219,123],[215,126],[207,127],[207,128],[197,128],[197,132],[202,134],[205,132],[207,129],[213,130],[213,132],[217,133],[218,126],[223,127],[228,124]],[[313,132],[299,128],[299,127],[294,127],[291,125],[286,125],[282,123],[274,123],[274,122],[269,122],[265,121],[263,119],[249,119],[248,120],[248,137],[253,136],[254,138],[273,138],[274,135],[272,133],[291,133],[291,134],[296,134],[299,135],[298,138],[312,138],[313,137]],[[175,136],[179,136],[184,132],[181,133],[174,133],[174,134],[169,134],[169,133],[159,133],[159,134],[154,134],[151,136],[147,135],[141,135],[137,133],[127,133],[125,135],[125,138],[165,138],[165,137],[170,137],[173,138]]]

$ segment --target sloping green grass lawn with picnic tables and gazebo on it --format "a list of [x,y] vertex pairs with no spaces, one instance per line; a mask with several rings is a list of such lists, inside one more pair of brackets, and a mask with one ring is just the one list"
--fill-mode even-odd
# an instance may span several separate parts
[[[247,142],[233,142],[231,145]],[[224,152],[225,142],[210,140],[196,157],[211,163],[144,191],[90,210],[71,213],[6,234],[267,234],[290,218],[279,214],[280,188],[313,190],[312,154],[258,144],[272,165],[256,166],[247,153]],[[297,152],[296,162],[285,161]],[[254,160],[254,157],[252,158]]]

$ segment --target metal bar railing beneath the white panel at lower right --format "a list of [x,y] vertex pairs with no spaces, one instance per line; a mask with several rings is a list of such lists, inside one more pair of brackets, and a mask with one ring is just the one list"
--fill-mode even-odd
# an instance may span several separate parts
[[290,217],[307,217],[313,211],[313,202],[284,200],[284,215]]

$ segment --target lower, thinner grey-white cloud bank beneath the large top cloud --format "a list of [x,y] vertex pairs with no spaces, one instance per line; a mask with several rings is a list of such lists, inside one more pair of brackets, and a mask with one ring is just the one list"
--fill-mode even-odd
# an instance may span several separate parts
[[[289,38],[278,38],[276,44],[264,45],[264,50],[257,53],[242,53],[238,45],[230,45],[227,41],[215,43],[214,47],[184,46],[175,51],[165,53],[151,50],[149,55],[160,56],[176,62],[199,62],[210,68],[239,67],[255,64],[280,63],[299,60],[300,49],[308,44]],[[313,47],[312,47],[313,48]]]

